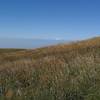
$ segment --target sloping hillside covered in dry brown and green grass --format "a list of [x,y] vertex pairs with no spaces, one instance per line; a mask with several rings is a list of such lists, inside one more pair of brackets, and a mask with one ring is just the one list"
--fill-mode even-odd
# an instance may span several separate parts
[[100,38],[0,50],[0,100],[100,100]]

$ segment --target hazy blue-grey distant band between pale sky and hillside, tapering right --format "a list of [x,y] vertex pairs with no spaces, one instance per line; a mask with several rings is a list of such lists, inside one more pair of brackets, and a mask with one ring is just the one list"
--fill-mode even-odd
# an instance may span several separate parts
[[66,43],[65,40],[49,40],[49,39],[12,39],[1,38],[0,48],[38,48],[59,43]]

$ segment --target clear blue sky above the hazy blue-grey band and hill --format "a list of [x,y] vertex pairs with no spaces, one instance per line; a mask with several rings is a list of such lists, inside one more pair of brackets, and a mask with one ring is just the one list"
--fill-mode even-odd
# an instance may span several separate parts
[[100,35],[100,0],[0,0],[0,37],[84,39]]

